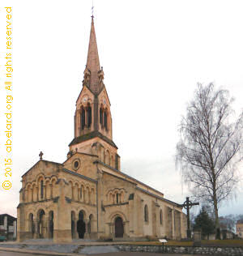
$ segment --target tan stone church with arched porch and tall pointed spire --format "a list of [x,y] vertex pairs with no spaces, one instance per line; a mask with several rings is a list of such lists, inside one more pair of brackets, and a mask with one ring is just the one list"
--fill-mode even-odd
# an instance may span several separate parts
[[122,173],[94,18],[76,100],[75,136],[63,163],[40,160],[22,176],[17,239],[139,240],[186,237],[182,207]]

